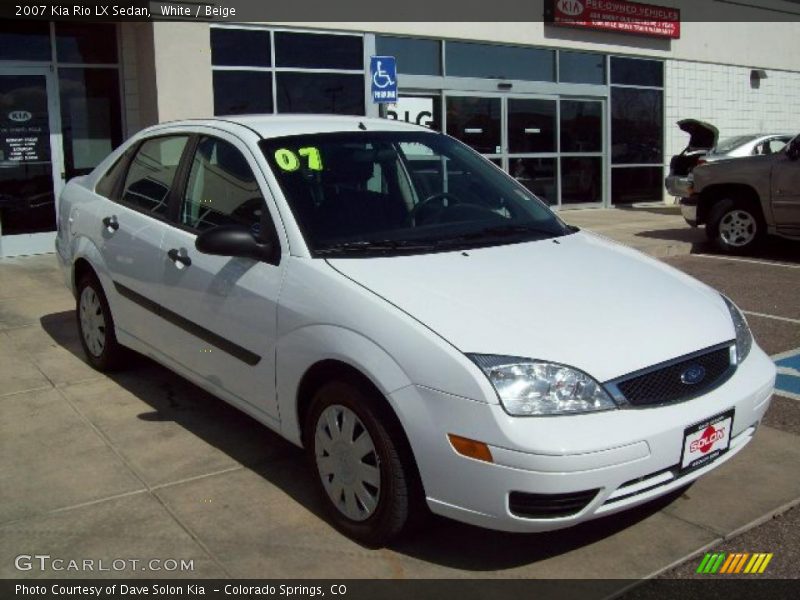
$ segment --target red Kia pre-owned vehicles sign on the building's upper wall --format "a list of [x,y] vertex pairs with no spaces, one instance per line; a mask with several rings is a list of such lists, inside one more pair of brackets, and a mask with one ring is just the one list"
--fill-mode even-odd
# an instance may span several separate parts
[[669,39],[681,37],[679,9],[627,0],[547,0],[544,20],[564,27]]

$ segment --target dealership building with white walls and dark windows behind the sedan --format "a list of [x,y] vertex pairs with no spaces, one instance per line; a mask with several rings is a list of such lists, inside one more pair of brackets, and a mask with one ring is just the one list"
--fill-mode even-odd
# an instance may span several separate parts
[[[554,20],[593,3],[634,4],[531,0]],[[558,209],[670,201],[663,178],[687,141],[676,121],[721,137],[800,131],[800,0],[672,4],[655,26],[0,21],[0,256],[52,251],[53,198],[125,138],[210,115],[398,118],[460,139]],[[375,55],[396,59],[395,104],[373,102]]]

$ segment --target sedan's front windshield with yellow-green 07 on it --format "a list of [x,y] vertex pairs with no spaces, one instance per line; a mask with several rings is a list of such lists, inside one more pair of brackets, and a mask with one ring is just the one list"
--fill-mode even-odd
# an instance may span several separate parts
[[439,133],[299,135],[261,148],[314,256],[437,252],[574,230],[498,167]]

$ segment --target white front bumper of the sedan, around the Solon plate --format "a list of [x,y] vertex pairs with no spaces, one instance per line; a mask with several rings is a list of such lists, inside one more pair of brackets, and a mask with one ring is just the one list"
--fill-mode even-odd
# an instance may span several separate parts
[[[712,392],[670,406],[559,417],[511,417],[485,404],[419,386],[392,394],[435,513],[503,531],[570,527],[645,503],[733,458],[753,438],[775,383],[772,361],[757,347]],[[735,409],[728,452],[681,474],[686,427]],[[494,463],[459,455],[452,433],[489,445]],[[596,490],[596,492],[595,492]],[[571,495],[591,491],[569,516],[512,512],[512,492]]]

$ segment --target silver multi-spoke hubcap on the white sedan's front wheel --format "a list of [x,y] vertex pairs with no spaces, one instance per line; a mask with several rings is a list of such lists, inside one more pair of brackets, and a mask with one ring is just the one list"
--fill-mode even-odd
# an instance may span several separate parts
[[367,428],[349,408],[322,411],[314,436],[322,485],[334,506],[353,521],[364,521],[380,499],[380,461]]

